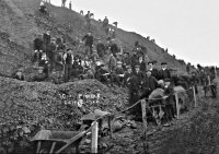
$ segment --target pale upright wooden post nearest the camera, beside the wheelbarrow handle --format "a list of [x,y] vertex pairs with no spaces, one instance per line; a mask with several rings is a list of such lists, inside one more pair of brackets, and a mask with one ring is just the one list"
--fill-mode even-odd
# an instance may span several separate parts
[[97,145],[99,145],[99,122],[94,121],[92,123],[92,140],[91,140],[91,153],[97,153]]

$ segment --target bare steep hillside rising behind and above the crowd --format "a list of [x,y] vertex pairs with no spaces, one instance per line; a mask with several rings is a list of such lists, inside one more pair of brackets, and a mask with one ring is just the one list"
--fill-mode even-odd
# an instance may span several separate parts
[[[0,1],[0,72],[10,75],[12,71],[22,66],[28,66],[33,52],[33,40],[36,34],[42,34],[46,28],[51,28],[53,36],[65,34],[68,46],[81,39],[88,32],[84,27],[82,15],[68,9],[48,4],[49,16],[38,12],[39,0],[1,0]],[[94,37],[105,40],[105,34],[101,31],[101,23],[92,20]],[[151,60],[168,61],[170,68],[185,71],[185,64],[180,63],[174,57],[165,52],[161,47],[145,37],[117,29],[118,46],[131,50],[134,43],[147,47]],[[160,62],[158,64],[160,64]]]

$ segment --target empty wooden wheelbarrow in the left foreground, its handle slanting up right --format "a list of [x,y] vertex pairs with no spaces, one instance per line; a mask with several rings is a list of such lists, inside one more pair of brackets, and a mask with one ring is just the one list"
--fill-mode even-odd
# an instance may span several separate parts
[[36,154],[80,153],[80,142],[91,131],[50,131],[41,130],[33,139]]

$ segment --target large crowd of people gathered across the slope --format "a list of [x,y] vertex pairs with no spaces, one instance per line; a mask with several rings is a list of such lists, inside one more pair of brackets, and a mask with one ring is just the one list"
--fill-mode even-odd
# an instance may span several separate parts
[[[62,7],[65,7],[65,2],[62,0]],[[41,9],[43,12],[46,11],[43,3]],[[55,83],[96,79],[107,86],[128,87],[129,105],[131,106],[143,97],[148,98],[157,88],[171,93],[172,91],[165,87],[165,83],[182,85],[185,90],[192,85],[198,93],[198,84],[207,85],[215,78],[208,79],[204,69],[198,70],[198,73],[192,72],[189,78],[173,76],[171,69],[168,68],[168,62],[161,61],[159,66],[154,67],[158,62],[149,61],[145,47],[140,46],[138,42],[134,44],[132,51],[120,49],[116,44],[115,34],[113,37],[108,37],[110,25],[106,16],[102,25],[102,29],[107,36],[105,40],[94,37],[91,33],[90,11],[84,17],[89,33],[81,38],[84,47],[81,52],[77,50],[78,48],[66,45],[65,35],[51,37],[50,29],[34,39],[33,62],[38,72],[32,81],[47,81],[53,78],[54,72],[60,74],[60,80],[54,81]],[[117,23],[115,25],[117,26]],[[189,72],[189,67],[186,68],[186,71]],[[21,69],[15,73],[15,79],[24,80]],[[211,92],[216,97],[215,86]],[[166,105],[169,121],[175,117],[174,106],[174,103]],[[132,112],[138,112],[137,110],[139,110],[138,107],[134,108]]]

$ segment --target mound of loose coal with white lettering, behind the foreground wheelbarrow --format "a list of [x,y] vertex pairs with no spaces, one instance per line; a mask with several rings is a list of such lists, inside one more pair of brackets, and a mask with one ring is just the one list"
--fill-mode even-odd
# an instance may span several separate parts
[[[15,146],[15,141],[28,141],[41,129],[78,130],[83,115],[94,109],[116,112],[127,103],[126,90],[111,90],[96,80],[55,85],[0,78],[0,88],[1,147],[4,150]],[[79,94],[87,96],[82,104],[78,104]]]

